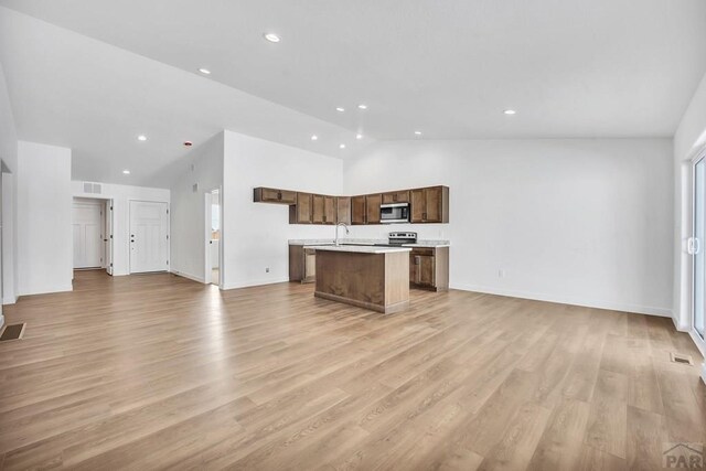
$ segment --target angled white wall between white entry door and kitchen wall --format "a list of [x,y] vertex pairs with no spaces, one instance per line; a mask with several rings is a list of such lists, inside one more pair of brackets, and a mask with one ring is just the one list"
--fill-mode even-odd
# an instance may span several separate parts
[[210,280],[205,274],[205,194],[223,186],[223,139],[218,132],[193,149],[171,188],[171,270],[201,282]]

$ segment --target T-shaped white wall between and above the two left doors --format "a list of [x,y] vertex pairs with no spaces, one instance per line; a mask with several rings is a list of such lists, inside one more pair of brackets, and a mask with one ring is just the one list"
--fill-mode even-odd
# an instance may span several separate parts
[[83,181],[72,181],[72,196],[113,200],[113,218],[115,224],[113,228],[113,275],[129,275],[130,201],[169,203],[170,192],[167,189],[147,186],[118,185],[113,183],[99,184],[101,188],[100,194],[85,193]]

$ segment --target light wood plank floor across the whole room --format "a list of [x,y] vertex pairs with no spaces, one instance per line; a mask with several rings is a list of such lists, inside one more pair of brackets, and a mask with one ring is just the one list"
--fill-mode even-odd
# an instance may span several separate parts
[[668,319],[463,291],[378,314],[311,285],[76,272],[0,344],[4,469],[661,469],[706,441]]

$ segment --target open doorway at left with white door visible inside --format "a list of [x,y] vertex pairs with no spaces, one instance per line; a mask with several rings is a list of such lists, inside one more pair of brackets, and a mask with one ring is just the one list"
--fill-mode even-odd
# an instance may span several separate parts
[[113,275],[113,201],[75,197],[72,207],[74,269]]

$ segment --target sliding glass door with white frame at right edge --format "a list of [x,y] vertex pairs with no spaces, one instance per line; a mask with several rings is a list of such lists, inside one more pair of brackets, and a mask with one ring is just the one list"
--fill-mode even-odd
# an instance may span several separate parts
[[706,347],[706,149],[693,162],[692,237],[688,253],[692,255],[692,322],[691,334],[698,346]]

